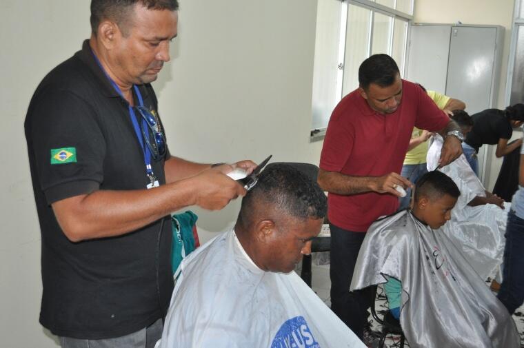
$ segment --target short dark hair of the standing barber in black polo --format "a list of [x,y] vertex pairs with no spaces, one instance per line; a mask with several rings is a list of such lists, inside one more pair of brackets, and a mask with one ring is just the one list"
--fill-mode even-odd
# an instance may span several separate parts
[[91,0],[91,32],[96,36],[100,23],[110,19],[127,35],[128,20],[133,6],[137,3],[141,3],[148,10],[179,9],[178,0]]

